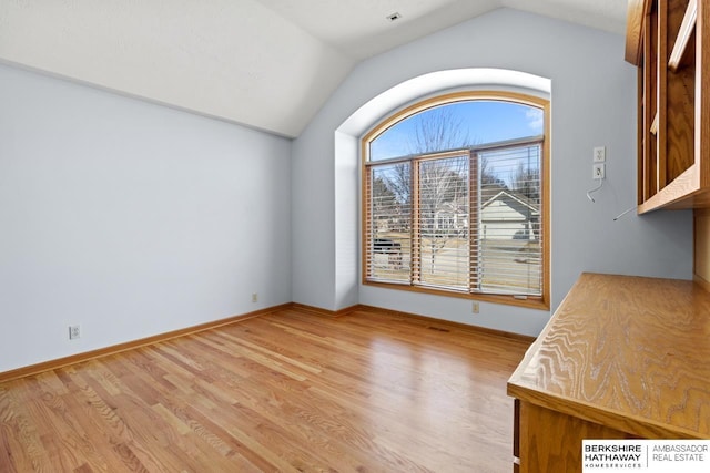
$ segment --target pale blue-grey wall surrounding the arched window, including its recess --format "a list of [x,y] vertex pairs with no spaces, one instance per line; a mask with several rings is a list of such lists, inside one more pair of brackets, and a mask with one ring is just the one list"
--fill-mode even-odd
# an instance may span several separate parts
[[[359,157],[335,131],[397,84],[463,68],[517,70],[551,80],[552,310],[581,271],[691,277],[689,212],[612,220],[636,195],[636,71],[623,62],[623,38],[500,9],[361,63],[294,142],[296,302],[329,310],[361,302],[528,335],[542,328],[547,311],[481,304],[473,316],[465,299],[359,284],[359,253],[352,251],[359,215],[349,200],[358,188],[353,163]],[[595,185],[591,153],[600,145],[607,146],[608,178],[591,204],[586,197]]]

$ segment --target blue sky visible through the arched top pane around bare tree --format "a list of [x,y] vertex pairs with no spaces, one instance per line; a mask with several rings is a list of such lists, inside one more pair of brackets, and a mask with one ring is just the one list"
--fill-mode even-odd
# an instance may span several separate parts
[[[500,101],[467,101],[443,105],[460,120],[474,144],[542,134],[540,109]],[[371,144],[371,160],[386,160],[412,153],[412,133],[416,123],[426,120],[429,109],[395,124]]]

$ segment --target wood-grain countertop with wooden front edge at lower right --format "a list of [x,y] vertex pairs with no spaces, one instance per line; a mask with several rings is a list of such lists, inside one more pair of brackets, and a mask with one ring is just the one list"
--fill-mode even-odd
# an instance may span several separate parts
[[710,292],[582,274],[508,394],[642,438],[710,439]]

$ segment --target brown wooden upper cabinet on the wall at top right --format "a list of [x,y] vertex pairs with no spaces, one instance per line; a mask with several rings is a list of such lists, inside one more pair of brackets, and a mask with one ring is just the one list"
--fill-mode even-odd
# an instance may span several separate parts
[[710,4],[629,0],[639,68],[639,213],[710,207]]

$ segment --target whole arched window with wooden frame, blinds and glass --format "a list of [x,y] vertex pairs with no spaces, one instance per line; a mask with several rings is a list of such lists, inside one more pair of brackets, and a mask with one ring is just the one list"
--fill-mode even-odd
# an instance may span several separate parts
[[549,307],[549,102],[466,92],[417,103],[362,141],[363,278]]

